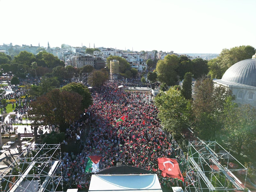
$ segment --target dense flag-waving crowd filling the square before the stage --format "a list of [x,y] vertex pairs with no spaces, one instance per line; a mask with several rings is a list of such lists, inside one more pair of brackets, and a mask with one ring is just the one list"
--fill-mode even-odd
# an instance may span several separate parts
[[[117,162],[130,164],[157,173],[162,187],[178,185],[173,178],[163,178],[158,169],[158,157],[175,158],[181,172],[185,161],[180,147],[162,130],[153,98],[148,92],[125,92],[118,88],[121,84],[124,82],[108,81],[92,93],[93,104],[85,112],[91,131],[84,149],[80,154],[65,153],[62,157],[66,187],[88,189],[92,173],[85,172],[85,167],[93,155],[102,156],[105,167]],[[117,122],[121,116],[125,120]]]

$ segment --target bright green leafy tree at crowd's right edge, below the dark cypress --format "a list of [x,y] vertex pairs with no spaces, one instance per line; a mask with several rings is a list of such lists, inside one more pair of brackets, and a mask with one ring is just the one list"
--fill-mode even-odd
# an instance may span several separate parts
[[167,132],[180,133],[190,126],[191,103],[177,89],[170,88],[155,98],[163,128]]

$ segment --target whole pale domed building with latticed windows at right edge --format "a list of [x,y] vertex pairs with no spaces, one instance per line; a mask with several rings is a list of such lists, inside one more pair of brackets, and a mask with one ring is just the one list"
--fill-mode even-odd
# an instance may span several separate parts
[[256,107],[256,54],[232,65],[221,79],[214,83],[228,87],[236,96],[238,106],[250,104]]

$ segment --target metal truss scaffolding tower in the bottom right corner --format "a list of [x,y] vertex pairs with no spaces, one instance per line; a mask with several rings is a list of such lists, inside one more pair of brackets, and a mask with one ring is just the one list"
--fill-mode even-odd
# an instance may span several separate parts
[[[244,174],[245,182],[234,173]],[[185,192],[245,191],[246,179],[247,168],[216,141],[188,142]]]

